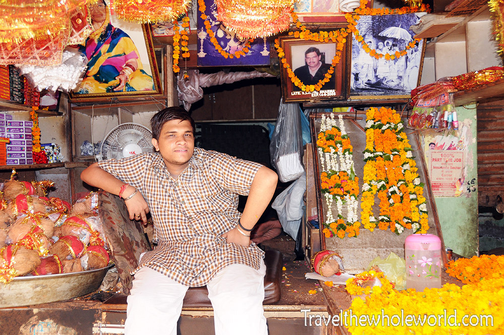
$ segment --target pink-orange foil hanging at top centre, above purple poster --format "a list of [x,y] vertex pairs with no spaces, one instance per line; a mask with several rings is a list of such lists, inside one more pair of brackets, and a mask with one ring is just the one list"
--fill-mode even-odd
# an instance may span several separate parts
[[267,37],[287,30],[292,0],[216,0],[219,20],[239,37]]

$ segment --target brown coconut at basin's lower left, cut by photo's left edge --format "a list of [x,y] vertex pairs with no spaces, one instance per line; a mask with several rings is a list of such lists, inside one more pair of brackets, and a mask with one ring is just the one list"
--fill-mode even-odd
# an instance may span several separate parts
[[0,249],[0,282],[9,283],[14,277],[35,270],[40,258],[35,250],[19,245],[8,245]]

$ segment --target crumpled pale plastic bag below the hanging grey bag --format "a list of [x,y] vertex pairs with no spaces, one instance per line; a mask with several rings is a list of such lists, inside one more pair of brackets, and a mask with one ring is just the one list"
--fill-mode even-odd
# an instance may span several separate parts
[[296,240],[303,218],[303,196],[305,191],[306,174],[303,173],[298,180],[280,193],[271,204],[271,207],[277,211],[284,232],[294,240]]

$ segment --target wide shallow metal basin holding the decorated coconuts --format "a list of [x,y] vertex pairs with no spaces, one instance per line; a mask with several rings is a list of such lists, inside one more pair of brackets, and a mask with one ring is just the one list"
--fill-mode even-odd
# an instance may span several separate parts
[[108,265],[99,269],[16,277],[7,285],[0,284],[0,308],[28,306],[61,301],[96,291]]

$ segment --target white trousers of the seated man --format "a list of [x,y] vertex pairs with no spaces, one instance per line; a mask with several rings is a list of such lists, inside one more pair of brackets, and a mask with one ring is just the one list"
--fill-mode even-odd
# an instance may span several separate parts
[[[259,270],[232,264],[208,283],[216,335],[267,335],[264,316],[264,261]],[[126,335],[176,335],[188,287],[149,267],[135,273],[128,296]]]

